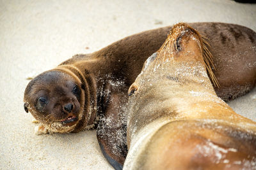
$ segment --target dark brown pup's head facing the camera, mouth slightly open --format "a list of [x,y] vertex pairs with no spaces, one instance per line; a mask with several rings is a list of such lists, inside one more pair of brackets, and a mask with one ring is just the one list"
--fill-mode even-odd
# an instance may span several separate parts
[[52,132],[70,132],[84,123],[85,90],[82,81],[67,69],[39,74],[28,83],[24,109]]

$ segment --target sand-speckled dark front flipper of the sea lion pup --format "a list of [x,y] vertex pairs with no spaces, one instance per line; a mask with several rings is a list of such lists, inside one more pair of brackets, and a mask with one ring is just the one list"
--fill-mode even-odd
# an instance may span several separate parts
[[115,169],[122,169],[127,155],[126,125],[127,92],[115,92],[109,97],[106,112],[97,127],[97,139],[104,157]]

